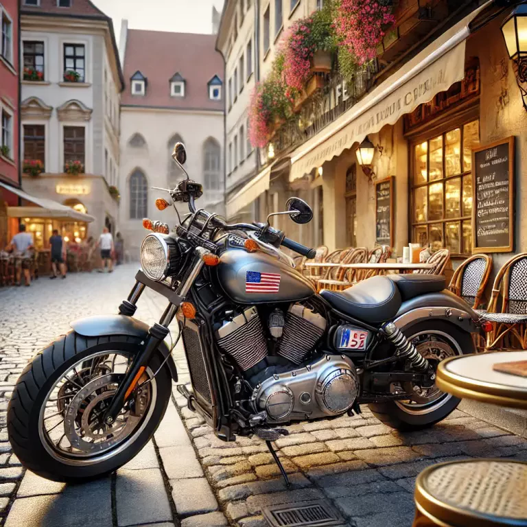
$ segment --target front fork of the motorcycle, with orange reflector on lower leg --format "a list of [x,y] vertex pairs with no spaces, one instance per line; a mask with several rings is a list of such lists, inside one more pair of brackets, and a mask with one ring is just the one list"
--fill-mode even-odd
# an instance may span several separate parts
[[[187,296],[192,284],[204,266],[202,257],[205,253],[207,252],[204,249],[196,249],[196,258],[194,259],[187,277],[176,290],[176,294],[171,290],[171,301],[167,306],[167,309],[165,309],[159,323],[154,323],[154,325],[148,330],[148,336],[145,338],[143,349],[135,355],[132,365],[128,368],[123,382],[119,384],[119,388],[117,388],[117,392],[110,402],[110,406],[108,406],[106,412],[104,412],[102,419],[106,424],[111,425],[115,421],[121,408],[123,408],[124,403],[126,403],[126,400],[130,396],[130,393],[132,393],[137,382],[141,378],[141,375],[143,375],[148,362],[150,362],[150,358],[152,358],[152,355],[159,347],[159,344],[161,344],[168,335],[168,327],[170,323],[174,320],[174,316],[176,316],[179,306],[185,300],[185,296]],[[137,309],[137,301],[141,297],[141,294],[143,294],[144,290],[145,284],[136,281],[128,295],[128,300],[123,301],[119,306],[119,313],[126,316],[132,316]]]

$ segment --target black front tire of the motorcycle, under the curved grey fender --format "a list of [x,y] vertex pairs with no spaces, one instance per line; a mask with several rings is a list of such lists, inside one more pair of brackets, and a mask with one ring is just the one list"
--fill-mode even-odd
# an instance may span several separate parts
[[[82,482],[115,471],[141,451],[167,408],[172,384],[167,367],[161,369],[150,385],[151,393],[155,390],[155,398],[152,396],[141,425],[137,425],[126,440],[117,443],[113,450],[115,455],[110,449],[107,455],[99,455],[99,458],[95,458],[94,454],[92,462],[79,462],[67,456],[60,458],[60,455],[50,454],[52,447],[49,443],[45,444],[45,436],[40,430],[42,409],[48,403],[50,390],[75,364],[82,364],[82,361],[86,364],[91,355],[100,356],[104,351],[118,351],[132,356],[137,353],[140,342],[140,338],[127,336],[86,338],[71,331],[35,356],[16,382],[8,406],[9,440],[22,465],[48,480]],[[149,373],[158,370],[161,366],[159,353],[154,355],[148,366]],[[60,441],[58,445],[60,447]]]

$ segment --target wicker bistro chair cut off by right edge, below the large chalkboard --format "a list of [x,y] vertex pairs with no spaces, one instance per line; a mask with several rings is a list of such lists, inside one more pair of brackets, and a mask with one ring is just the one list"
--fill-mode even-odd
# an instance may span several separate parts
[[[499,296],[502,309],[497,312]],[[527,349],[527,253],[512,257],[497,273],[489,310],[480,312],[493,324],[487,332],[485,351],[521,347]]]

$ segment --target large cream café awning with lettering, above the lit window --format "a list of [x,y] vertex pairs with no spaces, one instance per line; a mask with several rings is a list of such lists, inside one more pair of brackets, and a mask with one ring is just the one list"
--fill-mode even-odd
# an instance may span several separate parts
[[325,130],[292,152],[290,181],[309,174],[353,143],[360,143],[367,134],[395,124],[401,115],[412,113],[419,104],[429,102],[462,80],[468,25],[489,3],[452,26]]

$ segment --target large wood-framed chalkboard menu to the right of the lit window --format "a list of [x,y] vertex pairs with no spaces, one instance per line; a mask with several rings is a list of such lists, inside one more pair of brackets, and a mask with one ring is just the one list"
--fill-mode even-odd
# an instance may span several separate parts
[[513,250],[514,137],[472,150],[473,253]]

